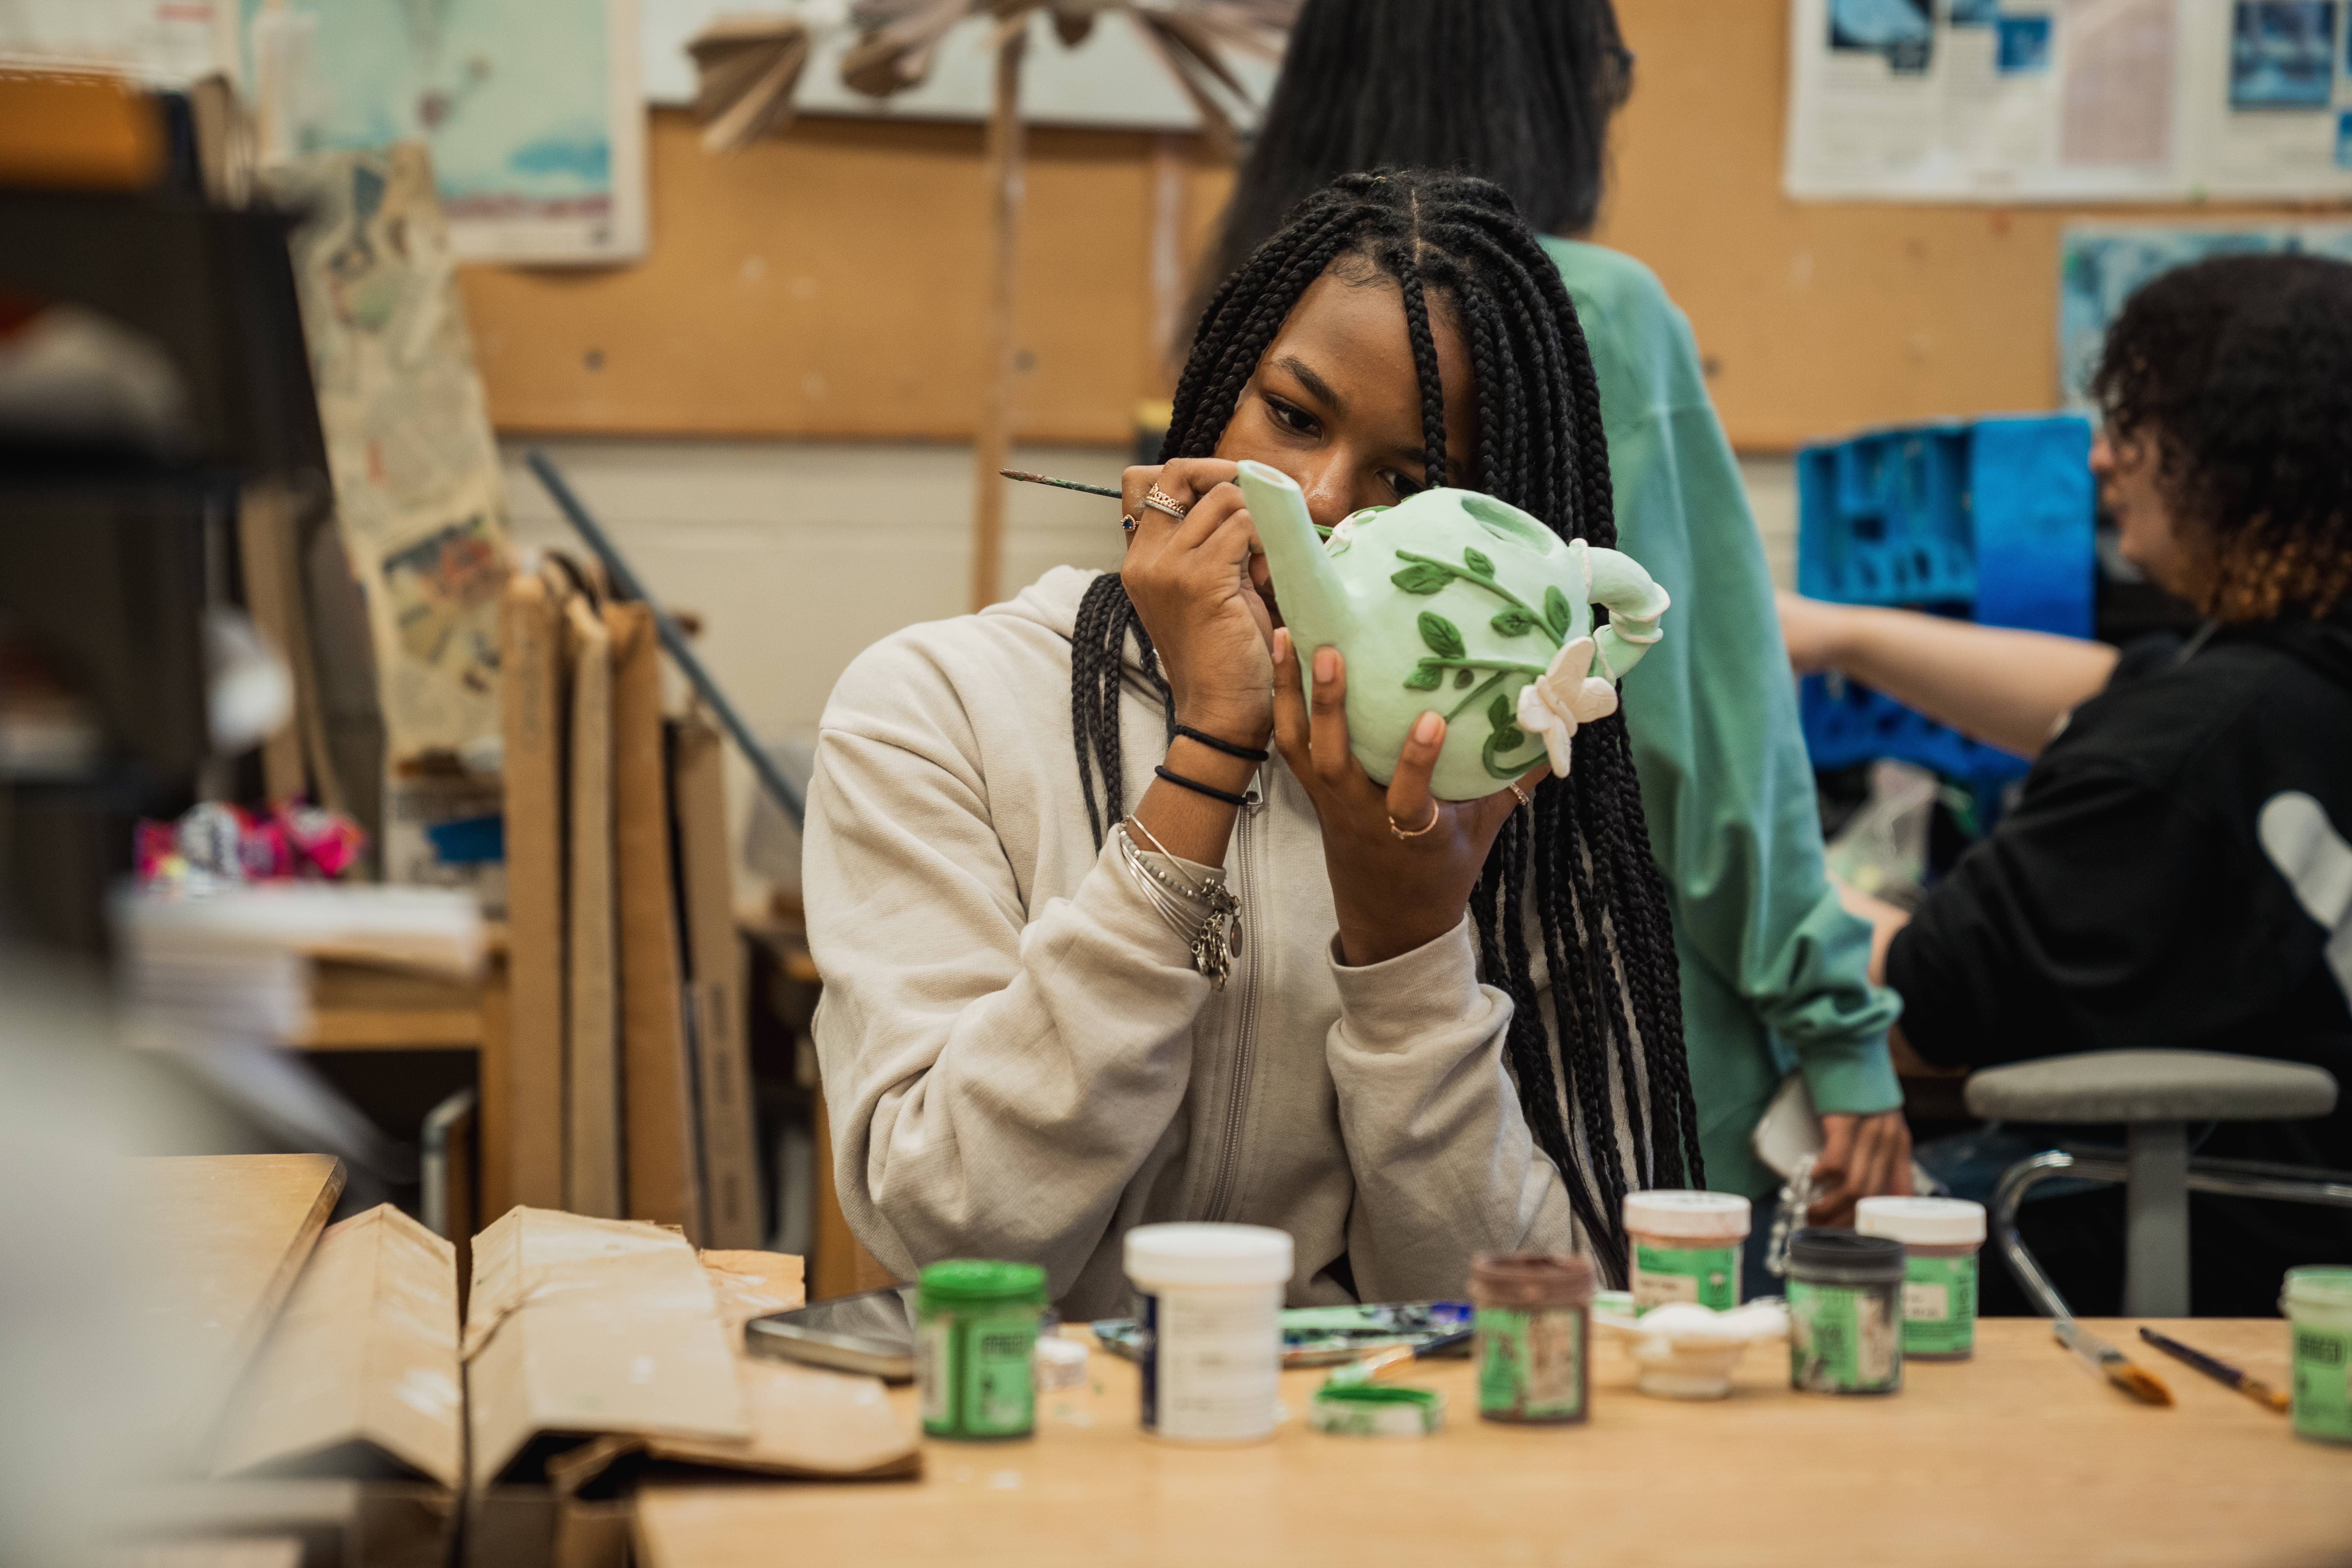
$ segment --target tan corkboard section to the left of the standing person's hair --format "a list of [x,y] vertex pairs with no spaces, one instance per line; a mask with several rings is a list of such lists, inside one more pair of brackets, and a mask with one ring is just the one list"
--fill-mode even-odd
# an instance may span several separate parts
[[[1023,440],[1124,442],[1157,390],[1152,136],[1030,136],[1016,388]],[[654,110],[640,266],[468,268],[501,430],[969,437],[985,190],[969,125],[802,120],[708,155]],[[1192,169],[1192,165],[1188,165]],[[1214,212],[1225,172],[1197,169]]]

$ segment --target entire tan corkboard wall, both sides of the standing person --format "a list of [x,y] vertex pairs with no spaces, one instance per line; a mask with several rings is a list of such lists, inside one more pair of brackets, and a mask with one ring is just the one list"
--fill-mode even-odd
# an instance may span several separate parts
[[[1597,240],[1689,310],[1733,442],[2046,409],[2051,207],[1792,202],[1788,0],[1618,0],[1639,56]],[[1183,146],[1185,252],[1230,188]],[[1035,129],[1021,440],[1127,440],[1152,362],[1155,139]],[[1167,153],[1162,143],[1162,155]],[[654,110],[654,242],[633,268],[468,268],[503,430],[964,440],[981,407],[981,127],[802,120],[713,158]],[[2089,209],[2277,219],[2288,207]]]

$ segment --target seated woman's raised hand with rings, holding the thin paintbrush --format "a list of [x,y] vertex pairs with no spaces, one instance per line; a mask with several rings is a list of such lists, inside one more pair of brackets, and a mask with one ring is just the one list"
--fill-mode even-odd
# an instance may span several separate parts
[[[1272,731],[1272,665],[1265,642],[1272,616],[1249,583],[1249,545],[1258,534],[1221,458],[1176,458],[1129,468],[1120,498],[1136,520],[1120,581],[1160,651],[1176,698],[1176,722],[1235,745],[1265,745]],[[1157,484],[1183,520],[1143,505]]]

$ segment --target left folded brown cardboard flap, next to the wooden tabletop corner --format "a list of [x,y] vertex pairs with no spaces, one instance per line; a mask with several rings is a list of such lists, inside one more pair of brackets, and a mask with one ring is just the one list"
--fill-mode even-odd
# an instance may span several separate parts
[[383,1204],[320,1237],[212,1469],[454,1488],[461,1455],[456,1248]]

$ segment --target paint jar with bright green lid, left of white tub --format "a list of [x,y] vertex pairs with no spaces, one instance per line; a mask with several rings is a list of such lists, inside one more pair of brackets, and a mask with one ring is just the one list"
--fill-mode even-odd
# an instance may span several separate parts
[[1035,1262],[957,1258],[915,1288],[915,1382],[927,1436],[1004,1439],[1037,1427],[1030,1356],[1044,1316]]

